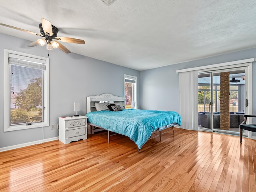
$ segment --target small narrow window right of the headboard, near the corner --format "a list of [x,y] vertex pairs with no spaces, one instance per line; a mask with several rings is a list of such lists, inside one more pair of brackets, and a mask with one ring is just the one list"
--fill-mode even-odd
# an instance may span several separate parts
[[125,108],[137,108],[136,105],[136,82],[137,77],[124,74]]

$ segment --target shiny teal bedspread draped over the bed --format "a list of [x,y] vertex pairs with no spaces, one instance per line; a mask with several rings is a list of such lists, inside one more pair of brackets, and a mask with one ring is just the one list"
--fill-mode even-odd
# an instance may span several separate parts
[[95,111],[86,114],[88,122],[106,130],[128,136],[139,149],[151,133],[169,124],[181,125],[181,116],[174,111],[127,109],[122,111]]

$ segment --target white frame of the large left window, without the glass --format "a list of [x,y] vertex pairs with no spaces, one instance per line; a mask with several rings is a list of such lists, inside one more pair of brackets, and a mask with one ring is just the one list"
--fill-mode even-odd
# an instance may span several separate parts
[[[28,60],[45,60],[46,71],[44,72],[44,81],[43,81],[43,99],[44,106],[42,106],[42,110],[44,110],[44,119],[43,122],[33,123],[31,125],[20,124],[20,125],[12,125],[10,126],[10,65],[9,65],[9,54],[16,54],[18,56],[27,57]],[[50,78],[49,78],[49,58],[35,56],[31,54],[25,54],[13,50],[4,49],[4,132],[14,131],[14,130],[24,130],[38,127],[49,126],[49,88],[50,88]]]

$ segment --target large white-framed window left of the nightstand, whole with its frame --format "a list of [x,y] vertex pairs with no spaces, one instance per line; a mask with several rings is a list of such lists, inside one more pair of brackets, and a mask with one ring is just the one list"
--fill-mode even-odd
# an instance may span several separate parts
[[49,59],[4,50],[4,131],[49,126]]

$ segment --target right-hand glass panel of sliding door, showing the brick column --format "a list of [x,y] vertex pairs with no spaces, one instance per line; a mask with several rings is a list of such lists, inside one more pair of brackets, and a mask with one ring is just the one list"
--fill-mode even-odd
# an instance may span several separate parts
[[[227,74],[227,78],[229,78],[228,83],[223,80],[223,76]],[[245,70],[218,72],[214,73],[213,76],[214,85],[216,86],[213,92],[217,96],[213,100],[215,102],[213,108],[213,129],[225,132],[239,132],[239,124],[244,119],[245,81],[243,79],[245,79]],[[225,97],[228,97],[228,100],[223,99]],[[229,124],[226,124],[228,122]]]

